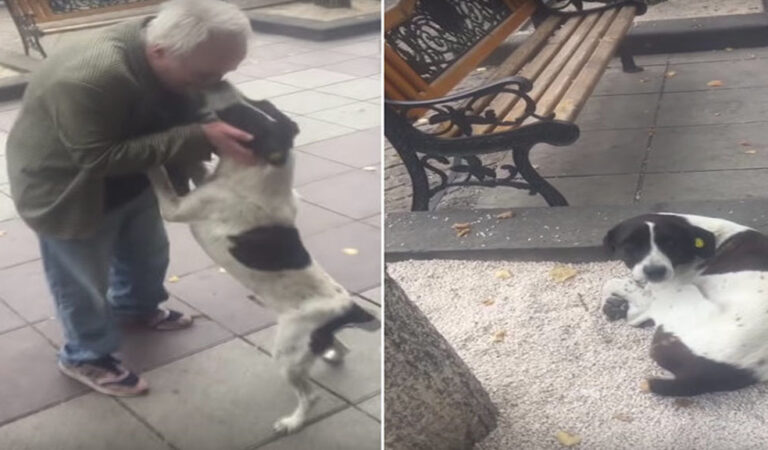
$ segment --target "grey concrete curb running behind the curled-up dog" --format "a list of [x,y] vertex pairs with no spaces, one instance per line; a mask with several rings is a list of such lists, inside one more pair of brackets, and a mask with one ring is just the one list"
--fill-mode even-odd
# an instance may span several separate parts
[[[701,201],[627,206],[520,208],[400,212],[387,214],[385,260],[514,259],[523,261],[601,261],[605,233],[616,223],[648,212],[679,212],[722,217],[768,232],[768,199]],[[470,223],[463,238],[451,228]]]

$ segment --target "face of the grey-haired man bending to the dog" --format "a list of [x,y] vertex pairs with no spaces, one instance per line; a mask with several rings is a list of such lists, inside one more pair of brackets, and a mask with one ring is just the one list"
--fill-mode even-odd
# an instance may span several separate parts
[[157,46],[147,58],[162,84],[174,92],[198,91],[217,83],[245,58],[247,44],[235,36],[212,36],[189,55],[179,57]]

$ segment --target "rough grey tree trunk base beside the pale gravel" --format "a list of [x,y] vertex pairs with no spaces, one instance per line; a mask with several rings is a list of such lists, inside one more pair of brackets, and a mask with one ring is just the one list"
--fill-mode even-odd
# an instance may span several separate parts
[[496,428],[496,406],[389,274],[384,287],[386,448],[472,448]]

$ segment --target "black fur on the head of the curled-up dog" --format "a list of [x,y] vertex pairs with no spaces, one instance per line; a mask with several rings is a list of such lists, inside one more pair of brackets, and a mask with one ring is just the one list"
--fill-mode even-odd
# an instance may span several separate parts
[[[603,239],[611,255],[621,259],[627,267],[634,267],[651,250],[650,228],[654,224],[654,242],[674,267],[715,254],[715,235],[688,223],[682,217],[667,214],[644,214],[625,220],[613,227]],[[700,239],[703,246],[696,246]]]

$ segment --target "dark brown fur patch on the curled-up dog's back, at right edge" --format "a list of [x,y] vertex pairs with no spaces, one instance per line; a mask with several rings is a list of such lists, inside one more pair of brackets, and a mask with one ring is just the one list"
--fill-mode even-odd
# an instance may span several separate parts
[[742,231],[720,244],[715,256],[702,264],[702,275],[768,271],[768,237],[754,230]]

